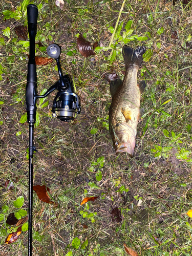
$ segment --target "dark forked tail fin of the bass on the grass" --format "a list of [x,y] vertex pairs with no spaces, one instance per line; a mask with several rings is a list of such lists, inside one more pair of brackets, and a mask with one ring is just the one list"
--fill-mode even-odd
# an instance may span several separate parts
[[132,66],[133,64],[140,67],[145,50],[146,48],[144,46],[140,46],[135,50],[131,47],[124,46],[122,48],[122,53],[125,62],[125,69],[127,70],[127,68],[129,68],[129,66]]

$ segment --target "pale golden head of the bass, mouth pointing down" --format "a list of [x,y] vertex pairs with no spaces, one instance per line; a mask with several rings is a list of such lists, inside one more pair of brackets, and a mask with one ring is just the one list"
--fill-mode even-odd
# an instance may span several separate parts
[[136,138],[133,128],[127,123],[117,123],[114,127],[114,132],[114,148],[116,154],[127,152],[130,157],[133,157]]

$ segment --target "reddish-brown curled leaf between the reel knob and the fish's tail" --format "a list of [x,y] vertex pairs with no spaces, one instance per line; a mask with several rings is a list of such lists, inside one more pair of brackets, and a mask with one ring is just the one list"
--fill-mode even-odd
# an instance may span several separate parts
[[77,38],[77,47],[79,49],[80,54],[84,57],[89,57],[91,55],[95,55],[94,49],[97,47],[98,43],[95,42],[93,45],[93,50],[91,47],[91,43],[87,41],[80,33],[79,37]]

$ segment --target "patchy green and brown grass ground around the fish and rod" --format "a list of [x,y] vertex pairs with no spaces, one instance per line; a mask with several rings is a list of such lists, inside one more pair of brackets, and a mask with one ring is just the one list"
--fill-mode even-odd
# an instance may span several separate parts
[[[12,2],[15,10],[20,3]],[[33,3],[40,4],[36,41],[44,47],[36,46],[36,55],[46,57],[45,49],[53,42],[61,46],[62,71],[72,76],[82,108],[74,124],[51,117],[55,94],[46,99],[48,106],[38,108],[33,180],[34,185],[50,188],[55,204],[43,203],[34,194],[33,255],[123,256],[123,243],[143,256],[191,255],[192,227],[186,215],[192,198],[190,4],[68,0],[60,10],[54,2]],[[1,1],[1,10],[13,6]],[[29,48],[26,42],[19,42],[13,30],[27,25],[25,9],[19,15],[20,19],[6,20],[1,16],[0,207],[9,207],[5,218],[15,211],[13,201],[19,196],[24,196],[22,208],[28,210],[29,133],[27,123],[19,121],[26,111]],[[126,27],[130,20],[131,27]],[[8,27],[10,34],[7,30],[6,36],[3,30]],[[171,38],[174,31],[178,39]],[[91,44],[100,42],[95,56],[80,55],[78,32]],[[107,78],[111,72],[123,78],[121,48],[125,43],[145,45],[149,56],[138,74],[138,80],[145,79],[147,87],[141,100],[145,112],[138,124],[133,159],[115,155],[107,126],[111,104]],[[37,68],[39,93],[58,79],[55,66],[53,61]],[[20,135],[16,136],[17,132]],[[97,162],[100,157],[104,157],[103,166]],[[98,181],[96,175],[100,173]],[[11,191],[5,189],[8,179],[14,185]],[[98,198],[80,206],[82,199],[90,196]],[[112,221],[115,207],[121,211],[121,223]],[[87,214],[83,216],[83,212]],[[5,245],[9,228],[4,220],[0,222],[0,254],[27,255],[28,232]],[[75,238],[80,240],[79,247],[72,242]]]

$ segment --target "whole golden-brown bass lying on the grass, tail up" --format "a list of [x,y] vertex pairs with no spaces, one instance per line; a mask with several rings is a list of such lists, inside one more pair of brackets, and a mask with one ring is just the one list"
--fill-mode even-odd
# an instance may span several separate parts
[[122,48],[125,63],[123,82],[120,78],[112,79],[110,92],[112,102],[109,112],[109,130],[116,154],[127,152],[134,156],[137,124],[144,113],[140,109],[141,95],[146,87],[145,81],[137,84],[137,73],[146,49],[140,46],[133,49],[128,46]]

